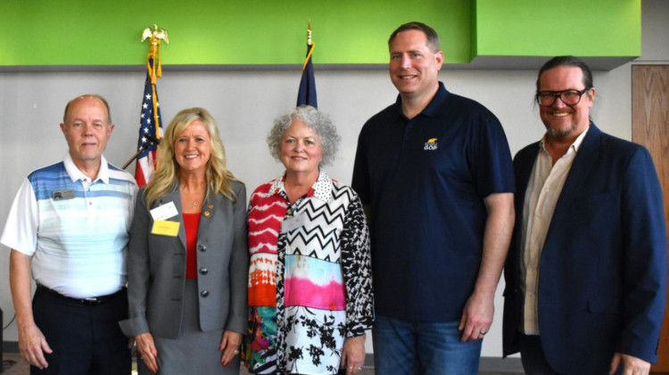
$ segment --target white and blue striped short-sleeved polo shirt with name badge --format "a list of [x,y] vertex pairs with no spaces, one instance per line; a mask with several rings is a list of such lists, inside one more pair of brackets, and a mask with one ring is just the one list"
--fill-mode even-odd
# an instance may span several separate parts
[[63,296],[105,296],[126,283],[136,184],[101,158],[95,180],[78,170],[70,154],[31,172],[0,238],[32,256],[33,278]]

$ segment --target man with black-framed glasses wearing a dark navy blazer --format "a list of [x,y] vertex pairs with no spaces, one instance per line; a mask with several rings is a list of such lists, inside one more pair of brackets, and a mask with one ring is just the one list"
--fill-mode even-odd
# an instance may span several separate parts
[[590,119],[590,69],[545,63],[546,134],[514,159],[516,228],[504,271],[504,355],[528,374],[648,374],[665,312],[662,191],[648,150]]

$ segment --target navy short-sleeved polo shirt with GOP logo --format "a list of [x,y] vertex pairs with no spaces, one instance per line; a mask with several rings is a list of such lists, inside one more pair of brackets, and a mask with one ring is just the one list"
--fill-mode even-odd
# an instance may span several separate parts
[[410,120],[398,96],[360,131],[351,187],[371,207],[376,313],[460,319],[481,266],[484,199],[515,189],[500,121],[442,82]]

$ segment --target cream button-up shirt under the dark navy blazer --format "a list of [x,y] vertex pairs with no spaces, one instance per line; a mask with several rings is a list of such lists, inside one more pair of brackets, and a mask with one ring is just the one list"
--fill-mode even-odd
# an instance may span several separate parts
[[524,293],[524,319],[520,328],[526,335],[539,335],[540,333],[537,293],[541,249],[546,240],[550,220],[558,204],[562,187],[565,186],[566,177],[588,129],[576,137],[566,154],[562,155],[555,165],[546,150],[544,137],[541,140],[539,154],[527,184],[523,205],[523,228],[521,229],[521,238],[523,238],[521,272],[524,275],[524,284],[521,287]]

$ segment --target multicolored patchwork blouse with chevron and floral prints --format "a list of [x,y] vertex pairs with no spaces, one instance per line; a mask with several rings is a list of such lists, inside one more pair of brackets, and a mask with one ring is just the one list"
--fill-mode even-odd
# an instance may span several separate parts
[[335,374],[343,342],[374,320],[367,221],[358,195],[320,171],[290,204],[283,178],[249,204],[249,335],[259,374]]

